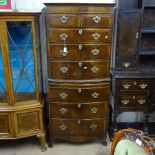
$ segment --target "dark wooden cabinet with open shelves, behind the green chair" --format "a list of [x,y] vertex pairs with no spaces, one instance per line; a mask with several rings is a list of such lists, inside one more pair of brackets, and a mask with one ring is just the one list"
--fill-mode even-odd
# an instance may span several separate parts
[[117,121],[120,113],[143,112],[142,126],[138,126],[139,122],[127,121],[123,128],[143,128],[149,134],[149,117],[155,110],[154,0],[119,0],[117,7],[115,65],[112,69],[114,102],[111,102],[114,131],[121,128]]

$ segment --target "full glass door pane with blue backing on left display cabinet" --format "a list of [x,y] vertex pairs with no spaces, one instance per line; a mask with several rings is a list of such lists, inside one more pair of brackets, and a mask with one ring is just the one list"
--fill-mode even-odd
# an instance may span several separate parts
[[32,23],[7,22],[8,45],[15,102],[36,99]]

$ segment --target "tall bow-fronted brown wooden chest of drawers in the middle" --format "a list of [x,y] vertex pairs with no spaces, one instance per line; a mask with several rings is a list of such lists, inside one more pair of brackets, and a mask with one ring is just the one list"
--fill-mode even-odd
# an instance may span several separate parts
[[113,5],[46,4],[50,145],[106,142]]

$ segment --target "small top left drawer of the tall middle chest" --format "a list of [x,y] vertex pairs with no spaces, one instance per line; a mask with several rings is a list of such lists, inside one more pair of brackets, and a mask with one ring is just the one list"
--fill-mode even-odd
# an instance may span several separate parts
[[80,27],[80,16],[76,14],[48,14],[46,15],[48,28],[65,28],[65,27]]

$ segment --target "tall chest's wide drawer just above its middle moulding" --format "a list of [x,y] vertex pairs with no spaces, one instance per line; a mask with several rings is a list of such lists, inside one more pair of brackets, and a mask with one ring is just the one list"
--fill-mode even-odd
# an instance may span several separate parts
[[109,61],[58,62],[49,61],[49,78],[65,80],[91,80],[109,78]]

